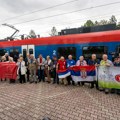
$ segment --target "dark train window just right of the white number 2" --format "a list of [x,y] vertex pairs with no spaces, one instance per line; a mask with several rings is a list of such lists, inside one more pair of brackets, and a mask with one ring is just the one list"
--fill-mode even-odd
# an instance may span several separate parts
[[57,53],[58,53],[58,58],[60,58],[60,56],[64,56],[67,59],[68,55],[71,54],[73,56],[73,59],[76,60],[75,47],[59,47]]

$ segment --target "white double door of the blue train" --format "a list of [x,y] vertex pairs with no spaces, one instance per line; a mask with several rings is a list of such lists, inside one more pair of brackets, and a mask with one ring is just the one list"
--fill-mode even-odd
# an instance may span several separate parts
[[35,56],[35,46],[34,45],[22,45],[22,55],[26,58],[27,54],[33,54]]

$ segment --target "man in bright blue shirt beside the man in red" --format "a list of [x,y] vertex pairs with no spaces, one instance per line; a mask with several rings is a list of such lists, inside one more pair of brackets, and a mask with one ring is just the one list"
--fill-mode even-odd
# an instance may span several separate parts
[[[67,59],[67,68],[72,67],[74,65],[75,65],[75,60],[73,60],[72,55],[69,55]],[[71,78],[71,75],[67,77],[67,81],[68,81],[68,85],[71,84],[71,81],[72,81],[72,85],[75,85],[74,81]]]

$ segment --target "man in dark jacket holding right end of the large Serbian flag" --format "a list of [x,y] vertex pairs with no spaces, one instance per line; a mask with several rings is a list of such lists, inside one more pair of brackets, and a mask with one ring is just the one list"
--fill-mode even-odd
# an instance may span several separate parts
[[[92,54],[91,59],[88,61],[88,65],[94,65],[98,67],[100,64],[100,61],[97,59],[96,54]],[[94,79],[93,82],[91,82],[91,88],[94,88],[94,84],[96,84],[96,89],[98,89],[98,81]]]

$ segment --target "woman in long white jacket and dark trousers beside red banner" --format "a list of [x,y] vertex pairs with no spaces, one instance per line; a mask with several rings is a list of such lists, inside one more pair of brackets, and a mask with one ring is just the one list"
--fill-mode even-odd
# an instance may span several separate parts
[[17,62],[18,65],[18,75],[20,77],[20,83],[25,83],[25,74],[26,74],[26,67],[25,62],[23,61],[23,57],[20,57]]

